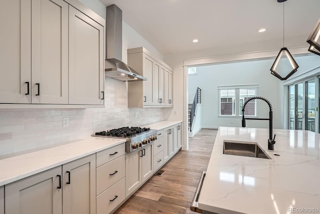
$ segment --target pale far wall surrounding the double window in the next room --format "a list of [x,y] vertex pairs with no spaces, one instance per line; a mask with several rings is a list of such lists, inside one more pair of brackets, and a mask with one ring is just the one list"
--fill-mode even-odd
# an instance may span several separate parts
[[[280,128],[279,80],[268,71],[272,63],[262,60],[197,67],[198,75],[188,76],[188,88],[190,92],[196,87],[201,89],[202,127],[241,126],[241,117],[218,116],[218,87],[258,85],[257,95],[272,104],[273,127]],[[268,118],[268,105],[264,101],[258,101],[257,105],[257,116]],[[267,128],[268,121],[248,120],[246,126]]]

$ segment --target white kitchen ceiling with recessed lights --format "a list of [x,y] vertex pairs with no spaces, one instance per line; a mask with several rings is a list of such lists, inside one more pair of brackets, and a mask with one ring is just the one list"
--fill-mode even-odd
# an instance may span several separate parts
[[[283,47],[283,3],[276,0],[99,0],[162,54],[244,46]],[[320,0],[284,2],[284,46],[305,42],[320,18]],[[266,32],[258,33],[259,28]],[[193,44],[192,39],[199,42]],[[241,50],[237,52],[242,53]]]

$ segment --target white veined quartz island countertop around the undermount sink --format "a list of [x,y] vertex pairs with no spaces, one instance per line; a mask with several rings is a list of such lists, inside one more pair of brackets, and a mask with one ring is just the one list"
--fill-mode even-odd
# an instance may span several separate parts
[[[219,127],[199,208],[223,214],[320,212],[320,134],[283,129],[273,134],[274,150],[268,150],[268,129]],[[223,154],[223,140],[255,142],[272,159]]]

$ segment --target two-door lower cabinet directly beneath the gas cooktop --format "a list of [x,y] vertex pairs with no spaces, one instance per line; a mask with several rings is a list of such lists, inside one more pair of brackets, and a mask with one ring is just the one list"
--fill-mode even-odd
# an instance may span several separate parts
[[125,157],[125,197],[135,191],[153,174],[152,144]]

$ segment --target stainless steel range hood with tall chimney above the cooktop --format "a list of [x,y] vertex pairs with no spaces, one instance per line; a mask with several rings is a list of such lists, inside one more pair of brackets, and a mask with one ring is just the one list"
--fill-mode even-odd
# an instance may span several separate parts
[[122,11],[115,5],[106,7],[106,60],[104,75],[121,81],[146,80],[122,62]]

